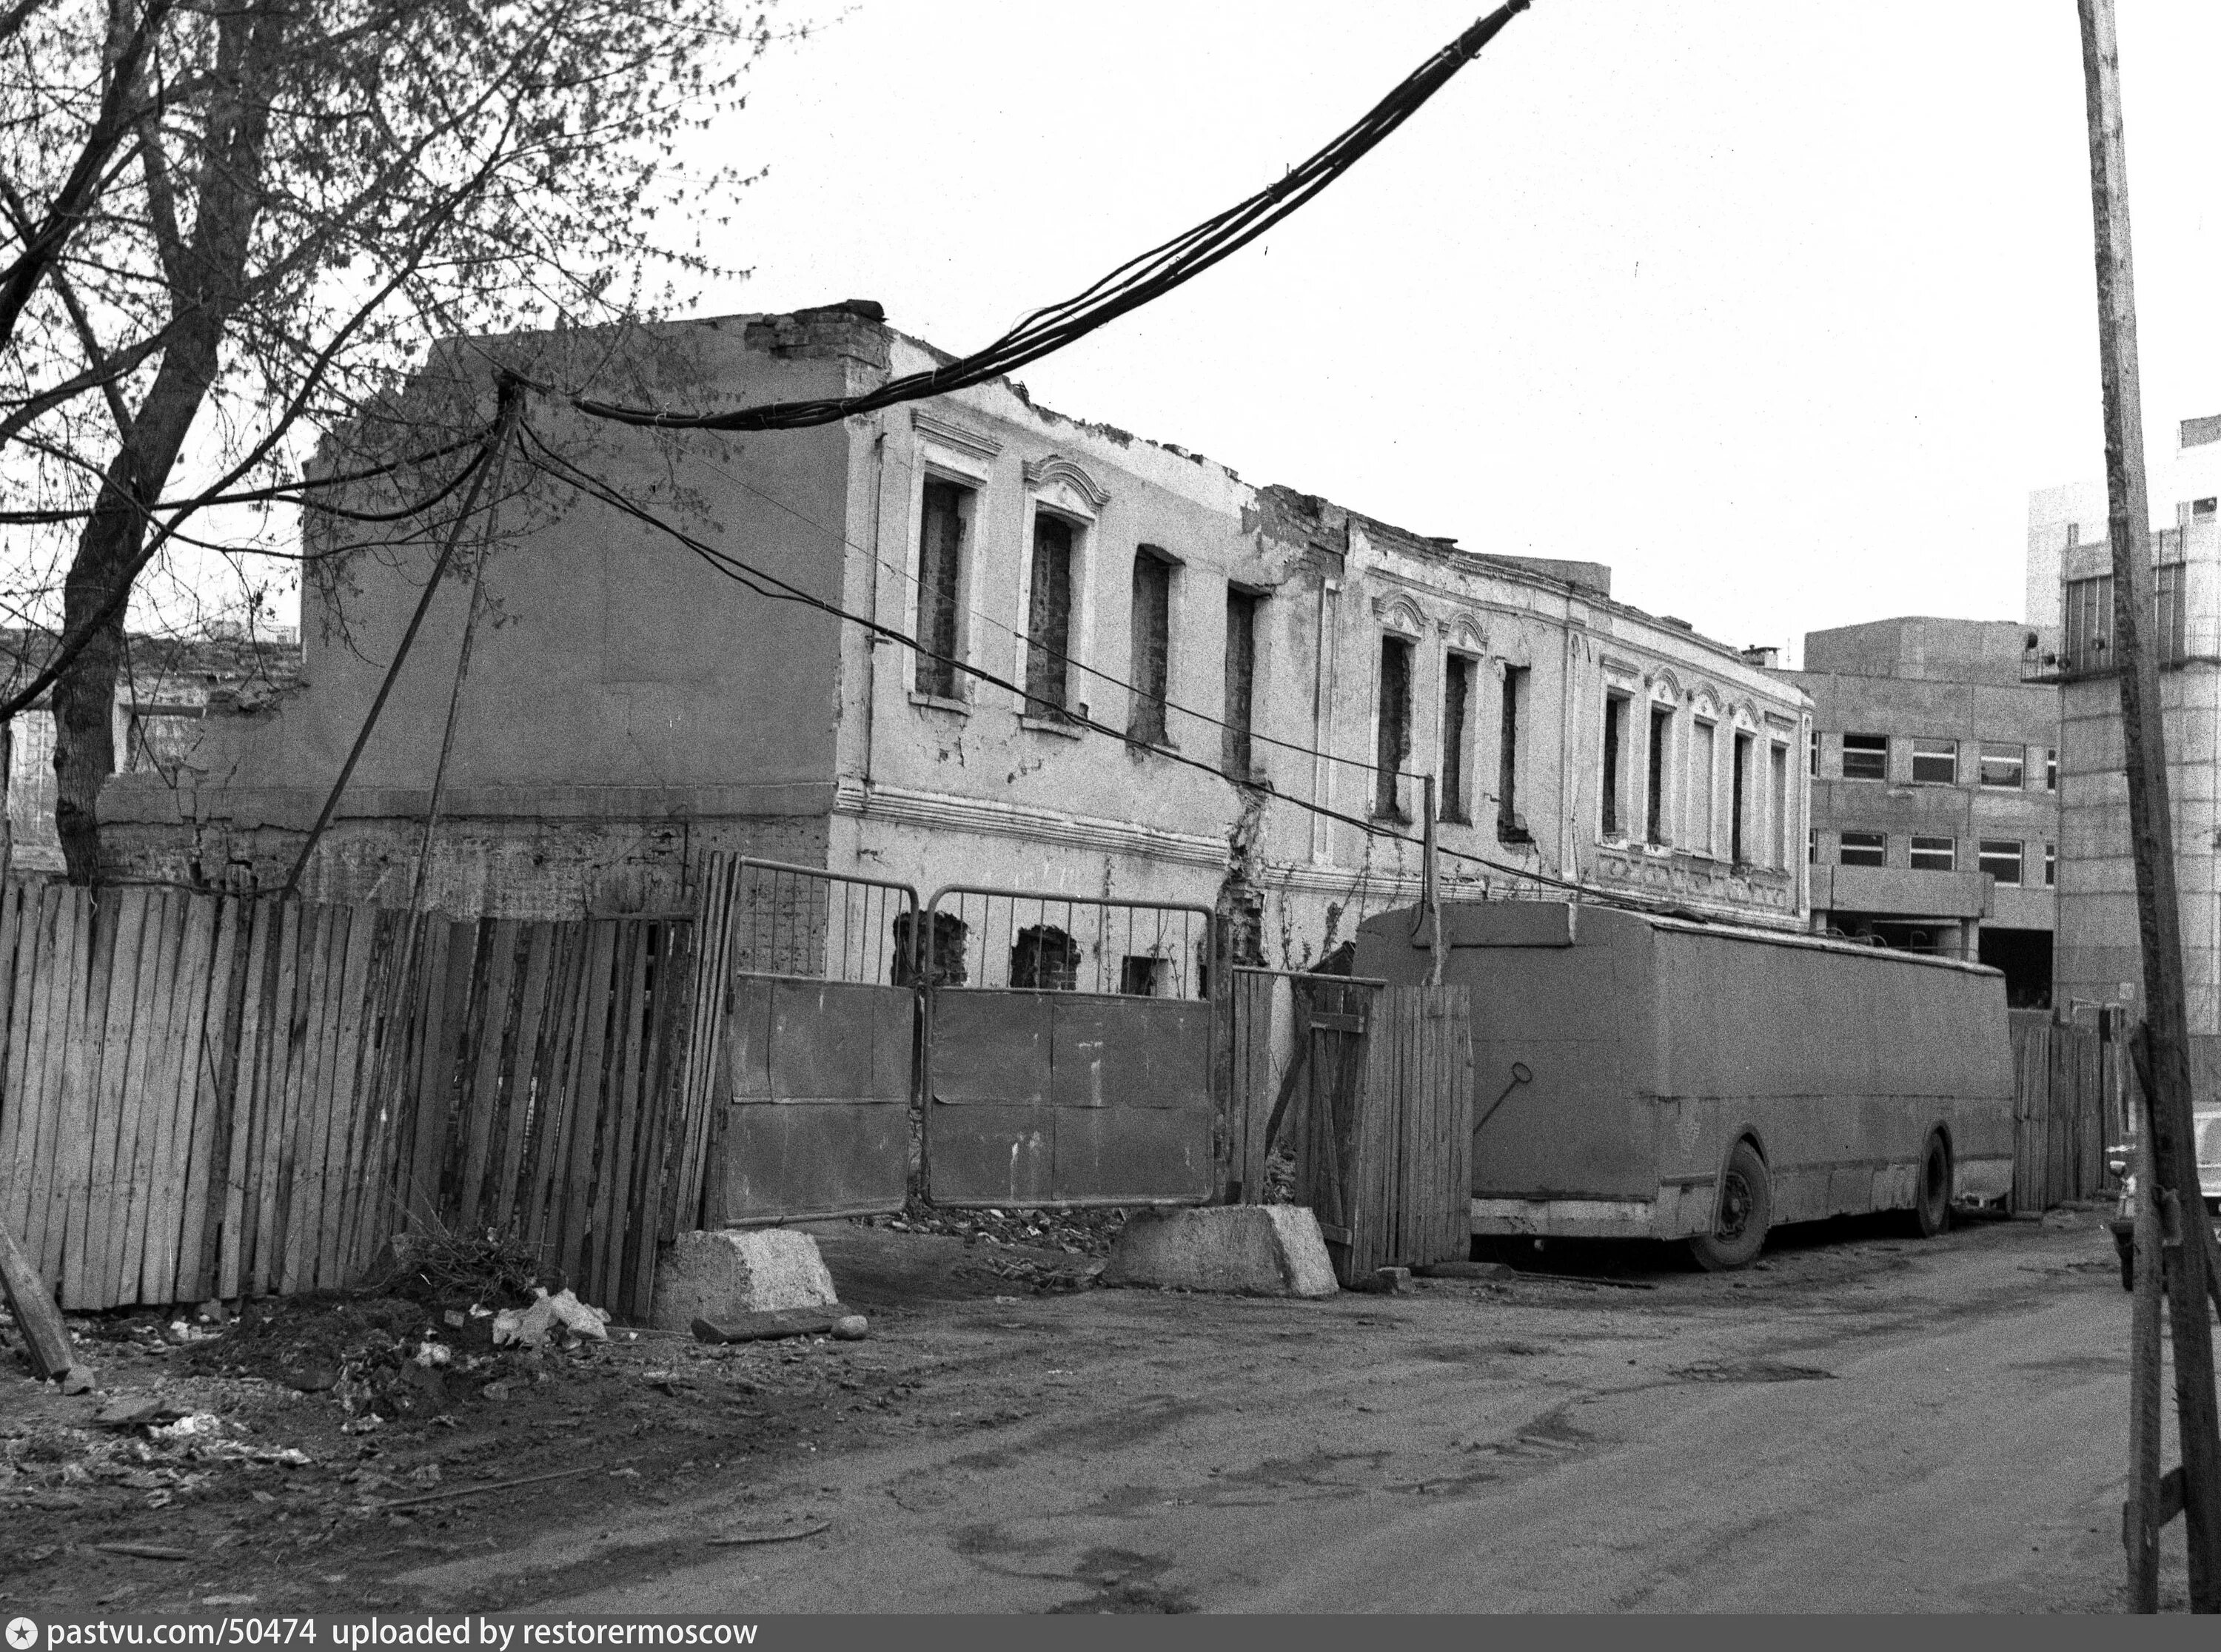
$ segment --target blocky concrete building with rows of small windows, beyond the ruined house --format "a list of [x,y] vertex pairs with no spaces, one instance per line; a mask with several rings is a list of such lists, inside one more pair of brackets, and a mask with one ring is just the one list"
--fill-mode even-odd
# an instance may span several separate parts
[[1812,926],[1968,957],[2021,1008],[2052,995],[2059,691],[2010,620],[1806,633]]

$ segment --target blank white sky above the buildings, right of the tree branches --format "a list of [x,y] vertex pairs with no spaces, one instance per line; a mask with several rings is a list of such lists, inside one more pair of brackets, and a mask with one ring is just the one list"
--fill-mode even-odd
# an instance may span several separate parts
[[[702,309],[875,298],[977,349],[1277,178],[1473,16],[862,0],[715,129],[768,178],[717,249],[753,275]],[[2121,56],[2159,457],[2221,411],[2221,7],[2121,0]],[[2092,293],[2072,0],[1537,0],[1279,231],[1024,380],[1795,644],[2021,617],[2028,491],[2101,469]]]

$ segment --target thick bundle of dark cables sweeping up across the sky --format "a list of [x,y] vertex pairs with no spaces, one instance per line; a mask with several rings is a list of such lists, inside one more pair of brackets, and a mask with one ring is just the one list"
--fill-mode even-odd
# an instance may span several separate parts
[[653,424],[662,429],[689,431],[797,431],[811,424],[833,424],[851,413],[873,413],[897,402],[915,402],[926,395],[944,395],[968,384],[1013,373],[1026,362],[1035,362],[1051,351],[1059,351],[1073,340],[1093,333],[1097,326],[1117,320],[1130,309],[1162,298],[1193,275],[1202,275],[1222,258],[1237,253],[1308,202],[1341,173],[1357,164],[1366,151],[1388,133],[1410,120],[1419,104],[1441,91],[1450,75],[1464,69],[1481,47],[1495,40],[1530,0],[1506,0],[1457,40],[1446,44],[1395,91],[1381,98],[1357,124],[1348,127],[1326,149],[1288,171],[1277,184],[1259,189],[1248,200],[1228,206],[1215,218],[1206,218],[1184,235],[1153,246],[1126,260],[1115,271],[1097,280],[1084,293],[1075,293],[1059,304],[1033,311],[1026,320],[997,338],[986,349],[926,373],[906,373],[888,380],[866,395],[846,395],[811,402],[768,402],[744,406],[731,413],[666,413],[646,406],[620,406],[575,397],[580,413],[624,424]]

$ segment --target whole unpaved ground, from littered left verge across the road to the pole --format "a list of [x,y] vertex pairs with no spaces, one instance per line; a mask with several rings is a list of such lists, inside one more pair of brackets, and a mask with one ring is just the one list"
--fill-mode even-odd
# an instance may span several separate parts
[[[1779,1235],[1730,1277],[1646,1250],[1552,1252],[1617,1283],[1521,1275],[1324,1303],[1033,1295],[1028,1268],[1073,1257],[815,1232],[873,1319],[868,1341],[620,1334],[551,1357],[546,1379],[451,1383],[446,1412],[369,1437],[340,1432],[329,1392],[262,1381],[249,1406],[240,1388],[244,1439],[293,1441],[304,1468],[118,1479],[107,1461],[87,1477],[58,1459],[96,1430],[58,1430],[58,1397],[11,1414],[31,1386],[0,1379],[18,1470],[0,1483],[0,1599],[733,1614],[2119,1603],[2128,1297],[2097,1215],[1926,1243],[1828,1223]],[[493,1490],[566,1468],[586,1472]],[[149,1472],[160,1488],[140,1485]],[[389,1508],[426,1483],[466,1494]],[[96,1548],[115,1537],[180,1559]]]

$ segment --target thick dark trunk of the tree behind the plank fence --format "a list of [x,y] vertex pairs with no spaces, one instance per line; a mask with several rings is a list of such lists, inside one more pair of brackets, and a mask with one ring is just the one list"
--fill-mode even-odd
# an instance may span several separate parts
[[162,366],[131,429],[122,431],[62,582],[62,635],[78,637],[98,620],[82,653],[53,684],[53,826],[71,884],[100,877],[96,808],[102,782],[115,773],[115,679],[129,611],[129,595],[120,593],[138,577],[147,506],[162,497],[178,451],[215,384],[224,329],[240,304],[253,224],[262,211],[267,69],[278,60],[284,29],[284,7],[269,0],[231,11],[220,24],[218,62],[229,71],[231,95],[229,109],[209,115],[207,149],[215,164],[198,175],[191,246],[164,246],[164,262],[184,278],[178,282],[180,329],[162,351]]

